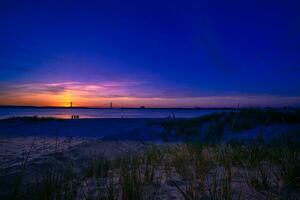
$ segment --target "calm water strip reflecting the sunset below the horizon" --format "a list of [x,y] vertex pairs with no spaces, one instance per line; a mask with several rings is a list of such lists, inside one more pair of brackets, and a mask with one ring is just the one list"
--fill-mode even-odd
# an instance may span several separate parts
[[165,118],[175,115],[177,118],[197,117],[222,110],[199,109],[46,109],[46,108],[0,108],[0,119],[9,117],[39,116],[71,118]]

